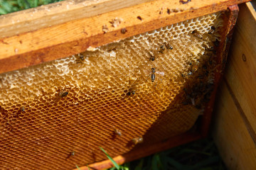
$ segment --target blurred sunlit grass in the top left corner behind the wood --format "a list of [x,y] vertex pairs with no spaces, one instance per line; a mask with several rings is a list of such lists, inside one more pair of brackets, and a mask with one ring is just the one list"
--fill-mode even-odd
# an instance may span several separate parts
[[46,5],[61,0],[0,0],[0,15],[21,11],[27,8]]

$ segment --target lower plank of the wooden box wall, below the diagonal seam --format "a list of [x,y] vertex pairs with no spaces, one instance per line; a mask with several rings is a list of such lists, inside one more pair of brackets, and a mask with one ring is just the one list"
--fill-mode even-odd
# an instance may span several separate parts
[[213,137],[228,169],[256,169],[256,147],[225,83],[215,108]]

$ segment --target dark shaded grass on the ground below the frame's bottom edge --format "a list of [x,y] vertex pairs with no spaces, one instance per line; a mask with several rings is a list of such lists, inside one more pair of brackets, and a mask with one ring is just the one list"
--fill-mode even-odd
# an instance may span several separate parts
[[[105,152],[104,149],[102,151]],[[218,149],[210,138],[174,147],[123,166],[117,165],[107,152],[105,154],[114,164],[110,170],[226,170]]]

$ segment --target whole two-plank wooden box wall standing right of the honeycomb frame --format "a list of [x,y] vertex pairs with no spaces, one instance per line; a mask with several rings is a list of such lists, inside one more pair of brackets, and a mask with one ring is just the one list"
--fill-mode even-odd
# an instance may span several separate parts
[[256,19],[250,7],[240,5],[215,108],[213,137],[228,169],[256,169]]

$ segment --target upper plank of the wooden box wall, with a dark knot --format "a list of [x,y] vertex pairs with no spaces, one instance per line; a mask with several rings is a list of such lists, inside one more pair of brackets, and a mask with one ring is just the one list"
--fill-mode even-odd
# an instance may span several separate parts
[[[250,3],[249,3],[250,4]],[[256,132],[256,19],[246,4],[240,6],[225,79],[254,133]],[[254,11],[255,13],[255,11]],[[256,137],[255,137],[256,140]]]

